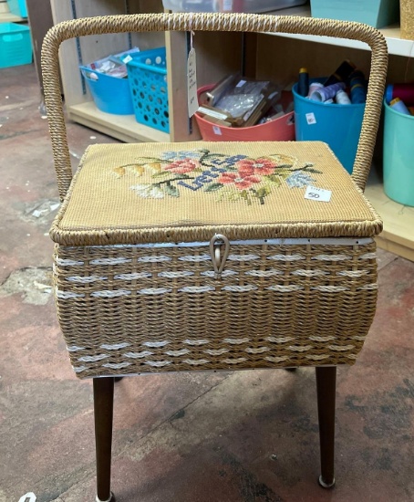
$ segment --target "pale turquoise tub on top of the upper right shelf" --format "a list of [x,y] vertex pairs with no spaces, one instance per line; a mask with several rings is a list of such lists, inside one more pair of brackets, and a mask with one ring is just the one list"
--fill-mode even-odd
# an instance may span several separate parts
[[399,0],[311,0],[313,17],[358,21],[380,28],[399,21]]

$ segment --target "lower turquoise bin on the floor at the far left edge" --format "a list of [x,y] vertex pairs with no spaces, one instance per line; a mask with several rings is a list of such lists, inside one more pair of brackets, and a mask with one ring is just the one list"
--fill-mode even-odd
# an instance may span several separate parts
[[29,65],[32,62],[32,40],[28,26],[0,24],[0,68]]

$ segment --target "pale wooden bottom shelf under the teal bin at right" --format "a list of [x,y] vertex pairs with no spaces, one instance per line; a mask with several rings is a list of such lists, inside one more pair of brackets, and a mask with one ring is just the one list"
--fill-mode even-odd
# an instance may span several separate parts
[[378,247],[414,261],[414,207],[389,199],[375,173],[370,174],[366,195],[384,221]]

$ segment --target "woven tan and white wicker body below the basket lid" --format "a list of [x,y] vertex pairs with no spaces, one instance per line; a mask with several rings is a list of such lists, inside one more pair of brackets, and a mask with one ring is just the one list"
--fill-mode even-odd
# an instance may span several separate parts
[[374,316],[375,244],[57,246],[57,309],[79,377],[352,364]]

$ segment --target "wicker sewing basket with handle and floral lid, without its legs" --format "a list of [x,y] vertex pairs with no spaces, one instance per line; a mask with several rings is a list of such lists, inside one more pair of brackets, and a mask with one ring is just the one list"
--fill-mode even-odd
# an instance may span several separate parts
[[[351,176],[321,142],[93,145],[72,180],[57,50],[71,37],[163,30],[357,38],[372,48]],[[378,214],[362,191],[387,47],[356,23],[285,16],[78,19],[47,35],[43,71],[62,207],[57,311],[79,378],[352,364],[377,301]],[[305,199],[306,185],[332,192]]]

